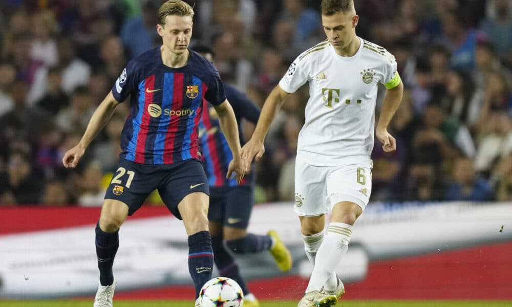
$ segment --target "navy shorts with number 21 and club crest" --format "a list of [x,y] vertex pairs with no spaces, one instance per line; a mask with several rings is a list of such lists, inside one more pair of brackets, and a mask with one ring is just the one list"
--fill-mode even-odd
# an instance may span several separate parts
[[125,203],[132,215],[154,190],[158,190],[165,206],[180,220],[178,204],[186,195],[209,194],[203,165],[196,159],[172,164],[141,164],[121,159],[105,199]]

